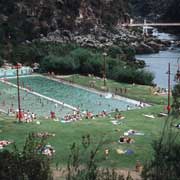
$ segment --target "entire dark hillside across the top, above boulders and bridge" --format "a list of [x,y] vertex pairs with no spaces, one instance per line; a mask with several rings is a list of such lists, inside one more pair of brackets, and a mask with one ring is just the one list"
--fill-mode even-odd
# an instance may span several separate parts
[[56,30],[89,33],[142,16],[180,20],[179,0],[1,0],[0,42],[22,42]]

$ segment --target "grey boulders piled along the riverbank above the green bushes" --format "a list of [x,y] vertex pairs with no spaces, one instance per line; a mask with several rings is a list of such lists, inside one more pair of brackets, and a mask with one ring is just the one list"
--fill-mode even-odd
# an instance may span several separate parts
[[103,26],[95,26],[88,32],[56,30],[48,33],[46,37],[42,37],[41,41],[75,43],[81,47],[98,49],[108,49],[113,45],[127,46],[133,48],[136,54],[157,53],[171,45],[170,41],[158,40],[152,36],[144,37],[141,31],[132,31],[124,27],[107,29]]

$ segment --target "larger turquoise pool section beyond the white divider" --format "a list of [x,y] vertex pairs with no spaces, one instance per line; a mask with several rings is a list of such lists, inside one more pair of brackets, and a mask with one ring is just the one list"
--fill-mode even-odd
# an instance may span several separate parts
[[[16,79],[9,79],[9,81],[16,84]],[[111,112],[116,108],[126,110],[127,106],[135,108],[135,104],[114,98],[107,99],[103,95],[66,85],[42,76],[21,77],[20,84],[24,87],[31,88],[37,93],[79,108],[81,111],[88,110],[95,114],[103,110]]]

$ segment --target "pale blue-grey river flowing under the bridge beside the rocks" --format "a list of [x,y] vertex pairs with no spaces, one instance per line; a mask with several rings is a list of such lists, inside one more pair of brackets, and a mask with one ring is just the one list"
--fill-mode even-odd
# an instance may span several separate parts
[[[167,33],[158,33],[157,38],[161,40],[179,40],[179,37]],[[178,68],[177,60],[180,58],[180,48],[171,46],[168,50],[160,51],[159,53],[136,55],[136,58],[146,62],[146,69],[155,75],[154,83],[162,88],[168,87],[167,71],[168,63],[170,63],[171,87],[175,85],[174,77]]]

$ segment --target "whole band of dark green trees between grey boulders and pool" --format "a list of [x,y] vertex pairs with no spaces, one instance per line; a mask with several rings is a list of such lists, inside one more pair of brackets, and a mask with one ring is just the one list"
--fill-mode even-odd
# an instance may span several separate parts
[[[14,64],[21,62],[31,65],[38,62],[41,73],[94,74],[100,77],[103,75],[105,60],[107,78],[152,85],[153,74],[142,69],[145,63],[135,60],[132,48],[113,46],[107,51],[106,57],[102,54],[102,50],[82,48],[74,44],[34,42],[13,46],[9,58]],[[5,56],[3,51],[0,51],[0,56]]]

